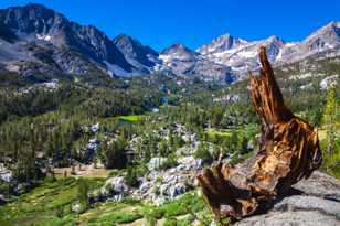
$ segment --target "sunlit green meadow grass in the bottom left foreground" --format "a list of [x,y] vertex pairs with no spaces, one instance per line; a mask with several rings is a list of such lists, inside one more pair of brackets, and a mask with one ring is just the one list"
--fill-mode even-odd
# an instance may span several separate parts
[[[103,185],[103,179],[85,179],[91,190]],[[57,181],[45,180],[31,192],[15,201],[0,206],[2,226],[73,226],[73,225],[134,225],[136,220],[155,225],[158,220],[166,225],[190,225],[190,213],[209,215],[203,200],[196,191],[182,195],[160,207],[127,200],[123,203],[95,203],[82,214],[72,212],[72,204],[78,202],[77,180],[73,177]]]

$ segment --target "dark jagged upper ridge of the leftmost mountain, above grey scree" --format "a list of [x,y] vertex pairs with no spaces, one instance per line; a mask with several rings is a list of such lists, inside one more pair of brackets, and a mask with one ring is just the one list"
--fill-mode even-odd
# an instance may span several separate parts
[[126,69],[129,67],[121,53],[98,29],[71,22],[43,6],[28,4],[1,10],[0,20],[20,41],[44,40],[57,47],[74,49],[98,62],[106,60]]

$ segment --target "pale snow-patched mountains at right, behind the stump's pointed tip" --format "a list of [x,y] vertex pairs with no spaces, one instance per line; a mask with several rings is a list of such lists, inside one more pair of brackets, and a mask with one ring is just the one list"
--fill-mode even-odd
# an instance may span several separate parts
[[330,52],[339,54],[340,23],[330,22],[301,42],[285,42],[278,36],[261,41],[245,41],[230,34],[221,35],[196,52],[204,57],[232,67],[234,74],[243,77],[247,69],[258,67],[257,50],[264,45],[273,64],[293,63],[306,57],[327,56]]

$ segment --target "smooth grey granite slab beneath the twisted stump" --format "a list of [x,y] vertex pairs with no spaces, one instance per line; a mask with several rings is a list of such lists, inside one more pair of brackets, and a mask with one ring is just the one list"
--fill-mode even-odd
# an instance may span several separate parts
[[340,182],[321,172],[300,181],[290,194],[278,197],[268,212],[251,216],[236,226],[339,226]]

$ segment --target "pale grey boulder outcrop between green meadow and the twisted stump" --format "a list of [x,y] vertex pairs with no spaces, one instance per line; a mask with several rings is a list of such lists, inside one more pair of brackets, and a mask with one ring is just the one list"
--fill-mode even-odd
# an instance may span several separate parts
[[160,206],[180,197],[195,187],[195,177],[202,170],[202,160],[193,157],[178,159],[177,165],[166,170],[151,170],[144,177],[139,177],[138,187],[127,184],[124,176],[113,176],[106,180],[102,189],[89,194],[91,203],[121,202],[127,196],[146,201]]

